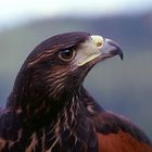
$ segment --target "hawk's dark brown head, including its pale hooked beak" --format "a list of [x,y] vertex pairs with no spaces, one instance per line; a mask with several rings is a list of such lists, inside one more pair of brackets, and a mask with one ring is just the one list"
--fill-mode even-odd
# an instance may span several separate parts
[[94,64],[117,54],[123,59],[118,45],[102,36],[83,31],[53,36],[22,66],[14,85],[14,92],[20,92],[16,101],[67,100]]

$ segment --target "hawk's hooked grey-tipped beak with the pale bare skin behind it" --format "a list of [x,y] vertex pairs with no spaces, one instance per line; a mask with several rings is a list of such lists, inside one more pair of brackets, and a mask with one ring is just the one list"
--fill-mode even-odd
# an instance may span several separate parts
[[85,45],[84,49],[79,51],[76,61],[78,66],[81,66],[87,63],[96,64],[115,55],[119,55],[123,60],[122,49],[115,41],[92,35],[91,42]]

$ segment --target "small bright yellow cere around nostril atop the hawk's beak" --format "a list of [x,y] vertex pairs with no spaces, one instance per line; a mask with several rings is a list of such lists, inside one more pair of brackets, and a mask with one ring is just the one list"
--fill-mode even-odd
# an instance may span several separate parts
[[92,35],[91,39],[97,47],[99,47],[99,48],[103,47],[103,43],[104,43],[103,37],[98,36],[98,35]]

